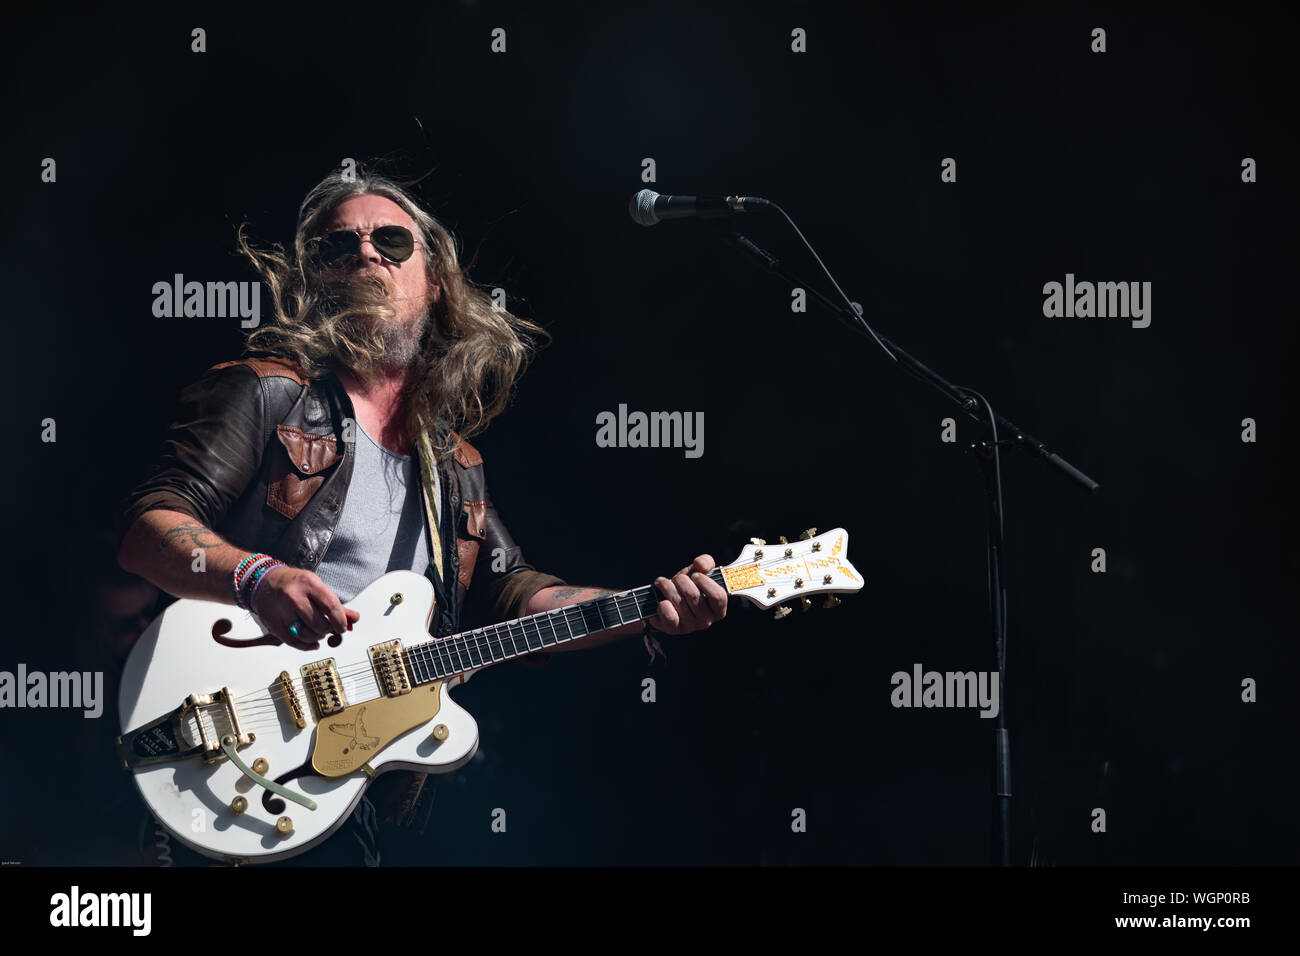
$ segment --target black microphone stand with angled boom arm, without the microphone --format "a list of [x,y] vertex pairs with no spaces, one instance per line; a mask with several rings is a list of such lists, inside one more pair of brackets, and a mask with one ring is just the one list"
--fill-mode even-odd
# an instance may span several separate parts
[[[792,286],[805,289],[816,302],[824,306],[841,323],[854,332],[881,343],[898,360],[898,365],[915,378],[932,385],[952,399],[958,408],[984,428],[984,437],[967,447],[979,455],[984,472],[984,497],[988,516],[988,592],[989,611],[993,626],[993,659],[997,662],[998,710],[993,741],[993,842],[992,856],[994,866],[1011,865],[1011,741],[1006,730],[1006,579],[1002,574],[1002,471],[998,449],[1004,445],[1019,447],[1039,458],[1082,490],[1095,494],[1100,485],[1067,460],[1050,451],[1048,446],[1024,429],[993,411],[988,401],[980,401],[972,389],[961,389],[937,372],[927,368],[884,336],[867,328],[861,311],[850,310],[827,298],[807,282],[793,274],[776,256],[754,245],[745,235],[732,232],[723,237],[732,248],[757,259],[770,272],[775,272]],[[983,408],[982,408],[983,406]],[[998,438],[998,434],[1004,436]]]

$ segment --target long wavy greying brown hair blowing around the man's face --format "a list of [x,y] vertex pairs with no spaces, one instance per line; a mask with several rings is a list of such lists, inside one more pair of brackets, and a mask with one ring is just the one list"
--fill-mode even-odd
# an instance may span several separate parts
[[[317,183],[298,209],[291,252],[278,243],[254,248],[239,226],[239,251],[265,282],[273,312],[269,323],[250,333],[244,350],[291,359],[312,378],[334,363],[363,378],[384,368],[389,341],[384,330],[395,316],[389,290],[380,281],[332,281],[313,255],[312,241],[338,206],[360,195],[385,196],[411,216],[426,278],[442,286],[403,395],[408,437],[413,442],[421,428],[439,420],[462,437],[482,432],[506,408],[528,360],[550,338],[540,325],[497,308],[469,280],[451,233],[420,208],[403,183],[378,173],[358,168],[352,178],[335,172]],[[448,454],[456,445],[448,441],[439,451]]]

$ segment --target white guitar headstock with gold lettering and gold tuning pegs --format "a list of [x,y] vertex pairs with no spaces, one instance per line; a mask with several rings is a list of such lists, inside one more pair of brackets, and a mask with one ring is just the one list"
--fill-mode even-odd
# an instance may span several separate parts
[[[750,538],[740,557],[722,571],[728,592],[748,597],[760,607],[801,598],[807,610],[809,598],[823,593],[827,600],[822,606],[835,607],[840,604],[835,594],[862,591],[863,585],[862,575],[849,563],[849,532],[844,528],[823,535],[809,528],[798,541],[783,537],[777,544]],[[776,617],[780,619],[789,613],[790,607],[784,606]]]

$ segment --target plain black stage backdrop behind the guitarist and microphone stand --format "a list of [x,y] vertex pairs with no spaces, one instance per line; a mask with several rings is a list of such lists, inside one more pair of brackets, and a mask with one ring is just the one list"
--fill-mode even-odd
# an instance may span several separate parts
[[[985,864],[993,721],[892,702],[916,665],[994,669],[980,429],[814,304],[793,311],[789,284],[706,224],[627,213],[644,187],[760,195],[881,334],[1101,485],[1002,459],[1013,861],[1297,862],[1295,18],[450,3],[8,20],[0,671],[112,683],[100,649],[130,611],[105,606],[103,536],[177,392],[243,334],[155,317],[153,285],[252,281],[238,224],[289,242],[307,189],[386,160],[424,177],[473,277],[554,337],[476,441],[532,563],[624,588],[705,551],[731,562],[750,536],[844,527],[866,588],[784,620],[734,601],[664,639],[666,663],[632,640],[480,674],[455,693],[477,757],[438,782],[422,836],[382,830],[384,862]],[[777,216],[742,224],[831,291]],[[1136,284],[1145,317],[1045,315],[1067,276]],[[702,414],[703,454],[599,447],[620,405]],[[153,847],[107,756],[116,731],[113,700],[98,719],[0,710],[0,857]]]

